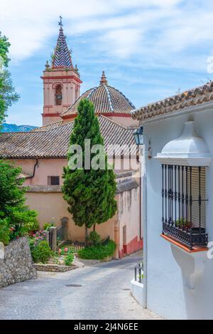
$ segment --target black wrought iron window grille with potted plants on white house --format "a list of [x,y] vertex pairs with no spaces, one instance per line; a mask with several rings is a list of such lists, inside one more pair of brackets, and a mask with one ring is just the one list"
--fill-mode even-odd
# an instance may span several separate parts
[[162,165],[163,234],[190,249],[207,246],[205,167]]

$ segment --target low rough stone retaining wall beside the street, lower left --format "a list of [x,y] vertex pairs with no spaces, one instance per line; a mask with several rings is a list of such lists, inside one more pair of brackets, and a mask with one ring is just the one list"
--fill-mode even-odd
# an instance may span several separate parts
[[0,258],[0,288],[36,278],[28,239],[21,238],[5,247]]

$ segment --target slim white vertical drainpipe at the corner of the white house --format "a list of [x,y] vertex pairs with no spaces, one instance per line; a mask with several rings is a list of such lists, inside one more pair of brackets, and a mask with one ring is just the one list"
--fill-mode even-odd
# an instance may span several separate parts
[[[145,136],[144,136],[145,137]],[[146,137],[144,138],[144,145],[142,147],[142,155],[143,155],[143,308],[147,308],[147,191],[146,191]],[[141,162],[142,165],[142,162]],[[142,170],[141,170],[142,172]]]

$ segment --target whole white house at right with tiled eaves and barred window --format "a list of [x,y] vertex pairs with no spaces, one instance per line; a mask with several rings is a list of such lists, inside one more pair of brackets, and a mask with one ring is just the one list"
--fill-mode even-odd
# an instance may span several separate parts
[[144,131],[143,306],[213,319],[213,83],[132,116]]

